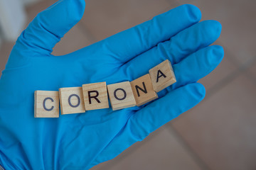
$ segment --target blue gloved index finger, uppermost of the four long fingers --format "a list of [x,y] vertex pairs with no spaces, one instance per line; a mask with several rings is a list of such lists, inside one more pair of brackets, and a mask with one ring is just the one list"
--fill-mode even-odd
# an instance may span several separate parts
[[198,23],[200,19],[201,11],[196,6],[178,6],[150,21],[102,40],[100,45],[110,50],[115,60],[127,62],[159,42],[169,40],[181,30]]

